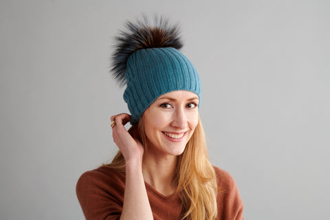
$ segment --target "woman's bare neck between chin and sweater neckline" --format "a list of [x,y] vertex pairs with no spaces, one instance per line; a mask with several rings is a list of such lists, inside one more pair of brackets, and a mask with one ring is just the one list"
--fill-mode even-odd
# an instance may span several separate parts
[[162,195],[173,195],[176,191],[173,181],[176,163],[177,156],[167,155],[159,158],[148,155],[142,163],[144,181]]

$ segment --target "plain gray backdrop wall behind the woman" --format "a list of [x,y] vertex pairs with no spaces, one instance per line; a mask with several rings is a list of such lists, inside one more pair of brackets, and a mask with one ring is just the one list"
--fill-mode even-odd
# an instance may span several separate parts
[[83,219],[75,186],[116,151],[109,74],[127,19],[181,23],[210,159],[245,219],[329,219],[329,1],[0,1],[0,219]]

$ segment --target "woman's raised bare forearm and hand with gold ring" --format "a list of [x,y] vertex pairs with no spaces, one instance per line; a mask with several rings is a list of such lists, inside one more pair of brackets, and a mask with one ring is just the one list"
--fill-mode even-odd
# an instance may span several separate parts
[[113,141],[122,152],[126,166],[124,203],[120,220],[153,219],[142,174],[143,146],[137,140],[137,131],[132,131],[132,137],[124,127],[130,120],[131,115],[126,113],[111,117],[111,122],[115,121],[112,128]]

